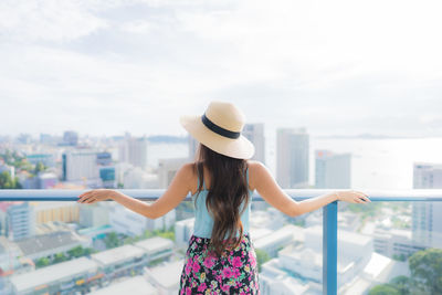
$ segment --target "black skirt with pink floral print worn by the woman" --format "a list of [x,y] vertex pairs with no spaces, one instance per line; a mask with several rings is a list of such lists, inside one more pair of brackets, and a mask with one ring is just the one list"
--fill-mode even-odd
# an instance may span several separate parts
[[209,243],[207,238],[190,238],[179,295],[260,294],[256,254],[249,233],[228,256],[208,254]]

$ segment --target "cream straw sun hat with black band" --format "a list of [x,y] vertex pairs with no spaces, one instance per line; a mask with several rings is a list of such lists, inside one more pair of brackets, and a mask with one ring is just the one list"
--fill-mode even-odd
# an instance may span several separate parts
[[241,135],[243,113],[231,103],[211,102],[206,113],[185,115],[180,124],[208,148],[236,159],[250,159],[255,152],[253,144]]

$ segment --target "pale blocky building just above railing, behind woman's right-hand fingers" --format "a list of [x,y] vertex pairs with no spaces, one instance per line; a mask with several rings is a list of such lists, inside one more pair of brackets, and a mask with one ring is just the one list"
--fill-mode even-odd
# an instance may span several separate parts
[[315,188],[349,189],[351,187],[351,154],[315,151]]

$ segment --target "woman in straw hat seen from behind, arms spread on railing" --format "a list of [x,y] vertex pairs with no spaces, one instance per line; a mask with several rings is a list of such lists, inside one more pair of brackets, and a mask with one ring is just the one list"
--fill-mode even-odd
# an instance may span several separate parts
[[267,168],[248,160],[254,147],[241,131],[244,116],[230,103],[212,102],[202,116],[182,116],[181,125],[200,144],[194,162],[183,165],[166,192],[146,203],[114,190],[92,190],[78,202],[113,199],[147,218],[162,217],[190,192],[196,207],[179,294],[260,294],[256,256],[249,234],[254,190],[281,212],[297,217],[333,201],[369,202],[359,191],[333,191],[294,201]]

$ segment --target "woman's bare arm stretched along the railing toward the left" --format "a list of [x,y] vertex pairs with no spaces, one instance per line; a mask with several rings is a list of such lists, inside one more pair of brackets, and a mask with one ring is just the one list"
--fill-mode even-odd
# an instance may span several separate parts
[[185,164],[175,175],[165,193],[152,203],[146,203],[117,190],[92,190],[80,196],[81,203],[95,203],[112,199],[131,211],[149,219],[157,219],[176,208],[189,193],[192,179],[192,165]]

